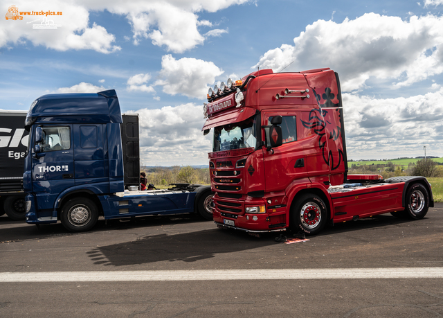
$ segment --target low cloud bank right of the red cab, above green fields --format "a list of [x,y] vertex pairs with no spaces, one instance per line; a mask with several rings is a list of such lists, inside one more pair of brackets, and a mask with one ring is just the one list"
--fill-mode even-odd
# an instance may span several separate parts
[[381,159],[422,154],[423,143],[443,155],[443,89],[408,98],[343,94],[347,154]]

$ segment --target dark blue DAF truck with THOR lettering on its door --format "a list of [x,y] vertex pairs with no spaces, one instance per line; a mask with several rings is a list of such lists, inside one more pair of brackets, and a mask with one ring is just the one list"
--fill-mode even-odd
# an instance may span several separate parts
[[116,91],[44,95],[31,105],[23,187],[26,222],[60,220],[87,231],[105,219],[199,213],[212,220],[210,186],[135,190],[140,178],[138,115],[123,115]]

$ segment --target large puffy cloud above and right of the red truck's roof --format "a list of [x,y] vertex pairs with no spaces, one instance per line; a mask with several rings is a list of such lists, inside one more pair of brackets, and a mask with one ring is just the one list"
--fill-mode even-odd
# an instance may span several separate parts
[[443,73],[443,17],[434,15],[318,20],[293,42],[266,52],[253,68],[280,71],[291,62],[285,71],[331,67],[343,91],[361,89],[371,77],[402,87]]

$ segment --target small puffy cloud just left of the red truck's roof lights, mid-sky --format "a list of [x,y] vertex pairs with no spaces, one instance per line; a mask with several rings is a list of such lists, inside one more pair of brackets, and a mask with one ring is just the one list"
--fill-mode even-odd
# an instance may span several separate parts
[[163,92],[171,95],[182,94],[190,98],[206,98],[208,84],[224,73],[213,62],[195,58],[175,60],[172,55],[161,59],[160,80],[155,85],[163,86]]

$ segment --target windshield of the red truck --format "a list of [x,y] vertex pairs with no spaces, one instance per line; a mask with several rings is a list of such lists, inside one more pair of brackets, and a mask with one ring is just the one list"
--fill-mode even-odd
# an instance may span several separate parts
[[256,118],[257,116],[252,116],[240,123],[215,127],[213,151],[255,148],[257,144]]

